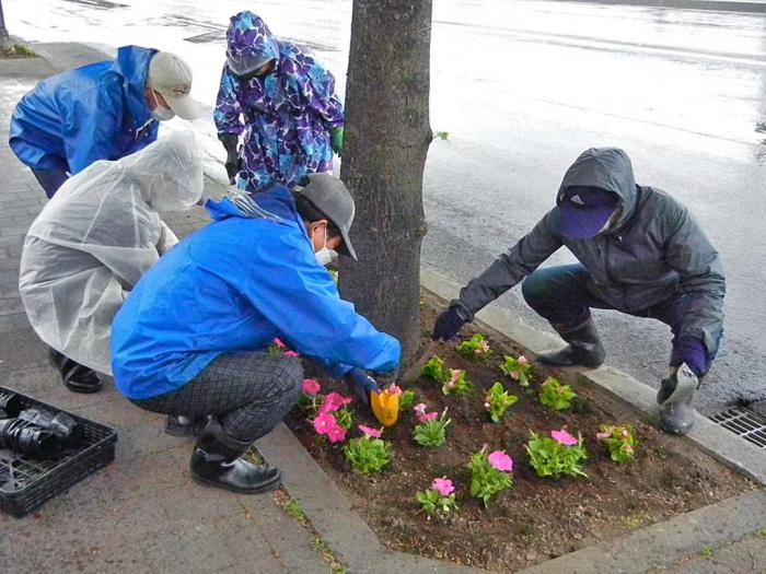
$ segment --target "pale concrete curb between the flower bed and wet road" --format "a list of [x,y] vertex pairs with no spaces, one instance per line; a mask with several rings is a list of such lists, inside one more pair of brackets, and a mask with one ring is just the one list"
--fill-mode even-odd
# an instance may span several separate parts
[[[420,284],[428,291],[446,301],[457,297],[462,285],[428,266],[421,266],[420,272]],[[520,323],[513,313],[494,303],[477,313],[476,317],[479,324],[500,331],[534,354],[564,345],[558,337]],[[658,408],[654,400],[657,390],[649,385],[610,366],[585,370],[579,372],[579,376],[638,408],[652,421],[657,421]],[[717,460],[739,470],[761,485],[766,485],[766,452],[763,448],[740,438],[698,412],[695,413],[694,429],[686,438]]]

